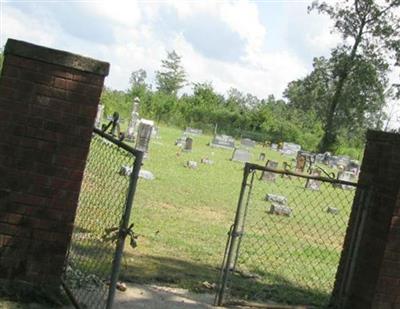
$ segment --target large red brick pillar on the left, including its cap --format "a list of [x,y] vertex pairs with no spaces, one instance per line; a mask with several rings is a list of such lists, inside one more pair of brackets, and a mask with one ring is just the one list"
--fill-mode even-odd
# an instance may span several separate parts
[[12,39],[4,55],[0,278],[55,290],[109,64]]

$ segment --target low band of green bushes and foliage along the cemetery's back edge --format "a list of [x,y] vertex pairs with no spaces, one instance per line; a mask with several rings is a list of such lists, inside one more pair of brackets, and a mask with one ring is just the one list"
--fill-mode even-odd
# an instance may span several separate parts
[[[142,87],[142,86],[140,86]],[[290,141],[304,149],[317,149],[322,137],[322,122],[315,110],[304,110],[274,96],[260,100],[250,94],[231,89],[227,98],[215,92],[211,83],[193,84],[193,94],[180,98],[161,91],[151,91],[147,86],[139,89],[135,84],[129,91],[105,88],[102,103],[106,115],[117,110],[127,125],[134,96],[141,100],[140,115],[179,127],[191,126],[213,133],[235,137],[248,137],[259,142]],[[124,123],[122,125],[124,127]],[[360,133],[361,136],[363,133]],[[346,140],[343,139],[346,144]]]

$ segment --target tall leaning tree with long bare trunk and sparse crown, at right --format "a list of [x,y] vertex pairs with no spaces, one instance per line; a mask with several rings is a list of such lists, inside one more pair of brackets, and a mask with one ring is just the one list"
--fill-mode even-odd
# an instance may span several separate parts
[[337,49],[341,61],[335,68],[334,91],[329,101],[320,150],[332,150],[337,141],[336,115],[359,56],[381,68],[386,66],[386,70],[388,55],[391,59],[400,59],[399,18],[394,12],[399,6],[400,0],[386,0],[382,4],[374,0],[347,0],[335,5],[316,1],[310,7],[311,10],[328,14],[335,22],[335,29],[343,37]]

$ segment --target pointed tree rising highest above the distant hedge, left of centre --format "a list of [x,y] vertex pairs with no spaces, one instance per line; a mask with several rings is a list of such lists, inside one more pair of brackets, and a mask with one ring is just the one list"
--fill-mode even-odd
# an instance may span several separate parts
[[186,82],[186,73],[181,65],[181,57],[173,50],[167,59],[161,60],[162,71],[156,71],[157,89],[166,94],[175,95]]

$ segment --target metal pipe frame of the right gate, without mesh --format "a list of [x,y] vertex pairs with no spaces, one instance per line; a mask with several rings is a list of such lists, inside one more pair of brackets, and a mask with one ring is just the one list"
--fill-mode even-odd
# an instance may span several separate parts
[[[329,305],[332,306],[331,308],[343,308],[343,306],[347,302],[347,296],[349,292],[349,286],[352,280],[352,276],[354,273],[354,264],[357,257],[359,244],[361,240],[361,235],[364,230],[365,225],[365,218],[368,212],[368,205],[369,201],[371,200],[371,188],[367,188],[361,186],[360,184],[332,179],[327,177],[321,176],[310,176],[310,175],[303,175],[299,173],[295,173],[289,170],[277,170],[273,168],[269,168],[266,166],[261,166],[258,164],[253,164],[246,162],[244,169],[243,169],[243,178],[242,184],[240,189],[240,194],[238,198],[237,208],[234,223],[231,225],[230,230],[228,232],[228,238],[225,246],[224,256],[222,260],[222,265],[220,268],[220,276],[218,280],[218,287],[217,292],[215,294],[214,305],[215,306],[223,306],[224,305],[224,296],[225,290],[227,287],[227,281],[229,274],[235,271],[237,259],[239,256],[240,245],[242,240],[242,235],[244,231],[244,225],[247,216],[247,210],[249,206],[249,200],[251,195],[251,190],[253,187],[253,181],[255,178],[255,172],[262,171],[264,172],[271,172],[280,175],[289,175],[289,176],[296,176],[299,178],[305,178],[308,180],[317,180],[322,182],[328,182],[332,184],[339,184],[339,185],[346,185],[346,186],[353,186],[357,188],[363,188],[363,190],[357,190],[352,210],[350,214],[349,220],[353,219],[353,228],[350,230],[351,235],[349,236],[349,246],[347,251],[347,257],[344,262],[344,267],[342,271],[343,279],[340,282],[340,286],[338,287],[337,294],[335,295],[335,299],[331,299],[329,301]],[[248,182],[248,178],[251,175],[250,182]],[[245,201],[245,194],[246,189],[249,188],[247,192],[247,199]],[[354,212],[354,215],[353,215]],[[346,236],[347,237],[347,236]]]

